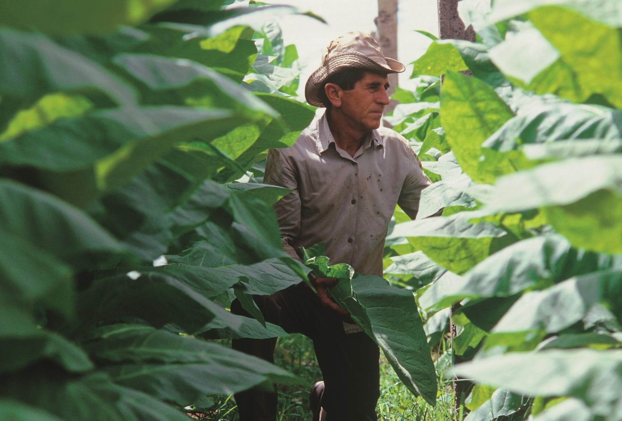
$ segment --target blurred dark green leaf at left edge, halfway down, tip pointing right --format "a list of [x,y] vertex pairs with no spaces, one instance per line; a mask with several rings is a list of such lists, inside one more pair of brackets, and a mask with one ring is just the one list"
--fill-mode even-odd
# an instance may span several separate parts
[[[88,260],[97,252],[125,252],[119,241],[82,211],[49,193],[6,179],[0,180],[0,232],[26,238],[31,247],[74,267],[98,263]],[[58,271],[52,273],[58,275]]]

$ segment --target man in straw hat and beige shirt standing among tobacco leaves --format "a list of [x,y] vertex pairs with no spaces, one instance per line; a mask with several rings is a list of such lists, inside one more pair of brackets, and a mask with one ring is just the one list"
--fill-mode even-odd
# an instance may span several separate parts
[[[323,242],[333,264],[383,275],[384,238],[396,204],[414,218],[421,190],[430,184],[406,139],[379,128],[389,104],[387,75],[404,70],[371,36],[350,32],[330,43],[309,77],[307,102],[326,112],[294,146],[269,152],[264,177],[293,190],[275,209],[285,251],[295,259],[300,246]],[[311,282],[315,292],[299,284],[255,300],[267,321],[313,340],[324,380],[312,391],[315,419],[374,421],[378,346],[329,298],[327,287],[337,280]],[[243,313],[235,302],[232,310]],[[238,340],[233,347],[272,361],[275,344]],[[276,394],[249,391],[236,402],[241,421],[275,419]]]

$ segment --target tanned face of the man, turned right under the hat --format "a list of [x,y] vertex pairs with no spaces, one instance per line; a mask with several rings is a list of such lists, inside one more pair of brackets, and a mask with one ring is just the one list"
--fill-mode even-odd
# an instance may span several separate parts
[[386,75],[365,72],[349,91],[341,91],[340,110],[352,127],[364,132],[380,127],[384,106],[389,104],[387,90],[389,80]]

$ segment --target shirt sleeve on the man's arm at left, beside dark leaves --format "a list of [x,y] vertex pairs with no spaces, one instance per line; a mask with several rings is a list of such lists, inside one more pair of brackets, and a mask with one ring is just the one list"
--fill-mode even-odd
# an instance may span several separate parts
[[264,183],[285,187],[292,190],[291,193],[281,198],[275,205],[279,228],[281,229],[281,241],[283,249],[294,259],[300,261],[295,248],[294,239],[300,233],[300,193],[298,190],[298,177],[287,162],[285,155],[279,149],[271,149],[266,158],[266,172]]

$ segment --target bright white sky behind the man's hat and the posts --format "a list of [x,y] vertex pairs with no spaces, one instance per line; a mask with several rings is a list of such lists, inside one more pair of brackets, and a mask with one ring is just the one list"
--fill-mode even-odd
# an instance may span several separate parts
[[[376,30],[374,18],[378,15],[378,0],[266,0],[271,4],[289,4],[301,11],[312,11],[322,16],[328,24],[306,16],[287,16],[279,24],[285,44],[298,47],[302,74],[301,92],[309,75],[322,60],[330,40],[350,30],[371,33]],[[439,35],[437,0],[399,0],[397,11],[397,60],[406,64],[406,72],[400,75],[399,84],[409,85],[408,76],[416,58],[422,55],[430,40],[415,30],[425,30]]]

